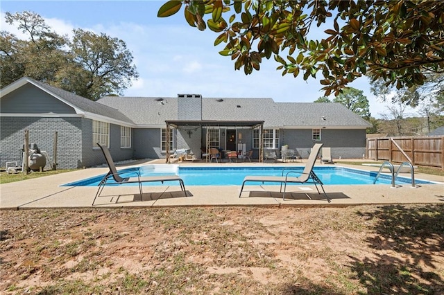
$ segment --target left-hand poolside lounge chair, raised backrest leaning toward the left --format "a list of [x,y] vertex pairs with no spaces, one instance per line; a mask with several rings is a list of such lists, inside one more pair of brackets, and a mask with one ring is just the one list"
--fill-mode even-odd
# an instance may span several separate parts
[[[182,190],[185,193],[185,197],[188,197],[187,190],[185,190],[185,184],[183,183],[183,180],[177,175],[141,177],[139,168],[128,168],[119,171],[114,165],[114,161],[112,161],[112,157],[110,154],[110,150],[108,150],[108,147],[105,147],[99,143],[97,143],[97,145],[99,145],[99,147],[101,148],[106,163],[108,164],[108,168],[110,168],[110,171],[100,181],[99,190],[97,190],[96,197],[94,197],[94,200],[92,202],[92,206],[94,206],[96,198],[100,196],[103,188],[105,188],[105,186],[107,185],[116,186],[121,184],[139,184],[139,192],[140,195],[142,196],[143,194],[142,184],[144,182],[160,181],[163,184],[164,181],[179,181],[180,190]],[[130,177],[131,175],[134,176]],[[112,181],[111,178],[114,179],[114,181]]]

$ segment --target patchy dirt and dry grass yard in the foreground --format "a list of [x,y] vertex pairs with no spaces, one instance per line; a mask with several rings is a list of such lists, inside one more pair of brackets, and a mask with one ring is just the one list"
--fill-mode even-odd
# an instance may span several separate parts
[[444,206],[1,211],[5,294],[443,294]]

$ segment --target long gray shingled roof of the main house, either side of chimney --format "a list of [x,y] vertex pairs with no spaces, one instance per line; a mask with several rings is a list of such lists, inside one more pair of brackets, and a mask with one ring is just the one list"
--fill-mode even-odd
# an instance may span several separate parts
[[[180,98],[159,99],[108,96],[98,102],[119,109],[137,125],[177,120]],[[264,127],[370,127],[337,102],[274,102],[271,98],[202,98],[202,120],[264,120]]]

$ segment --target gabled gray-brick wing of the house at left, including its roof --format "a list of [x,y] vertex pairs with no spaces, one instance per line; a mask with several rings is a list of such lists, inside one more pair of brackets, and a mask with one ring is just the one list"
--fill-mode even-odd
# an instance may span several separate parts
[[[58,168],[82,168],[104,162],[99,147],[109,141],[121,146],[122,129],[132,132],[130,118],[117,109],[99,104],[31,78],[21,78],[0,91],[0,166],[7,161],[22,163],[24,132],[29,142],[53,155],[57,132]],[[131,159],[131,144],[114,149],[116,160]]]

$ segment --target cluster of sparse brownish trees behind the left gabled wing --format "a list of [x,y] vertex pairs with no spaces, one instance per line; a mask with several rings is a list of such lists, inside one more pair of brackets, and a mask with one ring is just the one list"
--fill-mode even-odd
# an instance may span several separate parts
[[9,24],[28,33],[21,40],[4,31],[0,34],[0,81],[10,84],[24,75],[85,98],[121,94],[138,78],[133,55],[125,42],[101,33],[74,30],[74,37],[53,32],[33,12],[6,12]]

